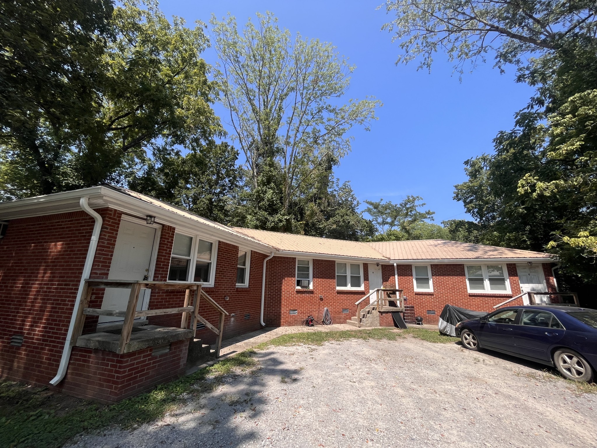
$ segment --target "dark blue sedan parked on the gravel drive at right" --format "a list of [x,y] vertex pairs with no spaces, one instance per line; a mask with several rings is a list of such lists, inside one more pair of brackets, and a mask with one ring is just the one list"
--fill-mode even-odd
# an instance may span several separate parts
[[555,366],[564,378],[592,381],[597,368],[597,310],[509,306],[456,326],[464,347],[487,348]]

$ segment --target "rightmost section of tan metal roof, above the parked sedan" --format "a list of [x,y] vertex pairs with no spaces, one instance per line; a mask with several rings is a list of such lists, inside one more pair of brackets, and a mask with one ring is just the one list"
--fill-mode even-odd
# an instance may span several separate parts
[[373,247],[390,260],[550,259],[549,254],[541,252],[446,240],[383,241],[364,244]]

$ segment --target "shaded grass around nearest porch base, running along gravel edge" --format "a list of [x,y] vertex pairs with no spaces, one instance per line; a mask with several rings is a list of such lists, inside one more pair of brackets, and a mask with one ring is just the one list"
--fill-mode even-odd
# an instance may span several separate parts
[[[161,418],[176,409],[189,392],[213,390],[234,369],[255,366],[254,351],[241,352],[189,376],[156,386],[150,392],[112,405],[76,400],[68,410],[57,412],[46,388],[30,388],[14,382],[0,383],[0,410],[11,403],[11,412],[0,415],[0,447],[55,448],[81,432],[98,431],[110,425],[132,428]],[[209,379],[210,381],[206,381]],[[60,394],[59,397],[63,397]],[[14,404],[18,400],[18,404]]]

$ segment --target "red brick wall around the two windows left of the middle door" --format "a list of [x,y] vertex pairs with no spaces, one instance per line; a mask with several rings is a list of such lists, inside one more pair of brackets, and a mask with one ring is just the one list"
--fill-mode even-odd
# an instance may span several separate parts
[[[301,325],[312,315],[321,322],[324,308],[330,310],[332,323],[344,324],[356,315],[355,302],[369,292],[367,263],[363,263],[364,290],[336,290],[336,262],[313,260],[313,289],[296,289],[296,259],[273,257],[267,262],[264,321],[267,326]],[[322,299],[319,296],[323,296]],[[349,309],[346,314],[342,309]],[[297,309],[298,314],[289,314]]]

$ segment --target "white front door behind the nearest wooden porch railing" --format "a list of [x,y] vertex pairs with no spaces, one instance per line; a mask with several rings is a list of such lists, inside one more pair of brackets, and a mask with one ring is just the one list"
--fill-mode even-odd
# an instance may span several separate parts
[[[153,252],[156,229],[142,224],[122,220],[116,237],[116,245],[110,264],[110,280],[146,280]],[[141,310],[149,290],[141,290],[137,310]],[[124,311],[127,309],[130,290],[106,288],[101,309]],[[122,317],[100,316],[99,323],[123,321]]]

